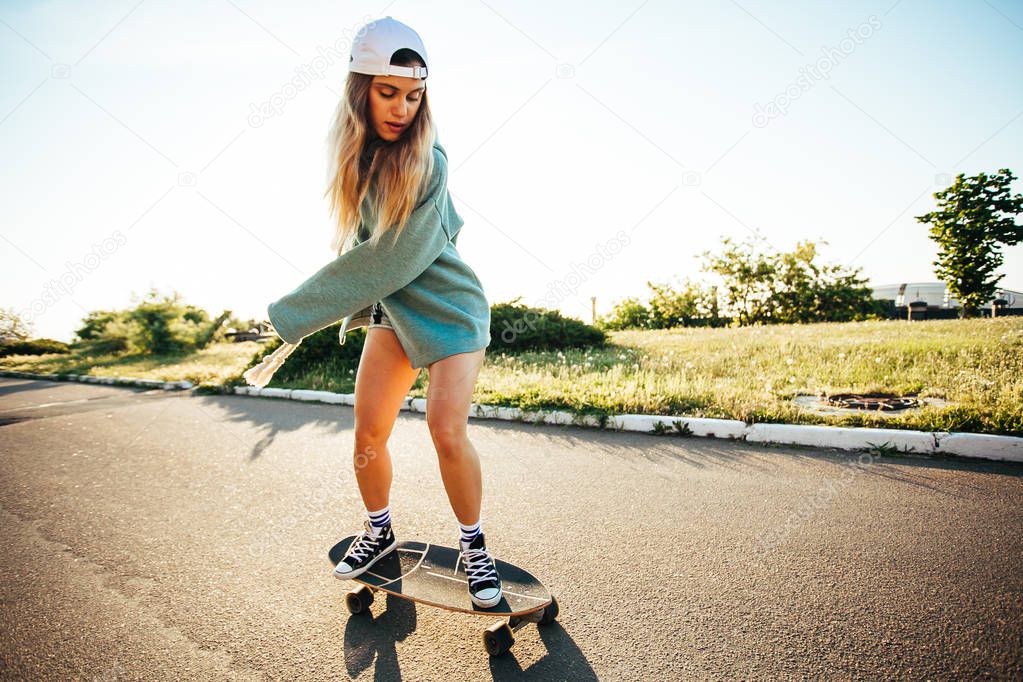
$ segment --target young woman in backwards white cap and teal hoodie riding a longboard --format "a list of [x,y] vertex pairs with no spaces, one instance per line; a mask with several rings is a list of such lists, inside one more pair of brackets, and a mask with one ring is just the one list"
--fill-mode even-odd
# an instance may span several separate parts
[[368,518],[333,571],[348,579],[397,545],[387,442],[427,367],[427,423],[458,520],[470,597],[487,607],[501,600],[501,582],[480,526],[480,460],[465,427],[490,345],[490,307],[455,247],[463,221],[447,191],[427,74],[427,51],[412,29],[391,16],[360,29],[329,145],[326,193],[339,257],[270,304],[269,320],[285,343],[246,378],[265,384],[304,336],[342,317],[342,344],[347,331],[367,327],[355,378],[354,464]]

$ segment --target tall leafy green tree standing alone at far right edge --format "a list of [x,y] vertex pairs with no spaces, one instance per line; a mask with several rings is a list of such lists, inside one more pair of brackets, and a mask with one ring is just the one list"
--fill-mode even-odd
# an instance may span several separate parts
[[1023,240],[1023,226],[1015,217],[1023,211],[1023,194],[1013,196],[1009,185],[1016,177],[1007,168],[988,176],[955,176],[950,187],[934,193],[937,211],[916,216],[930,224],[931,238],[939,246],[935,273],[959,299],[961,317],[974,312],[994,295],[1000,277],[1000,244]]

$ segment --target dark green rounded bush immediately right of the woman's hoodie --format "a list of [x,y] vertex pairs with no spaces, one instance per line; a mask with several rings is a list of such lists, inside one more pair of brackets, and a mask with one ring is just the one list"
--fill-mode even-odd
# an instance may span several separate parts
[[517,305],[518,301],[490,307],[489,353],[604,348],[608,345],[603,329],[562,317],[557,310]]

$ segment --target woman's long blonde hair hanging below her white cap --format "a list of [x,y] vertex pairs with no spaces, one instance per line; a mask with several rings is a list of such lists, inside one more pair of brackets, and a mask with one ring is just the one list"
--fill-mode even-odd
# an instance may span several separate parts
[[[426,65],[414,51],[405,49],[395,52],[391,63]],[[379,145],[368,165],[362,163],[364,147],[372,137],[372,80],[367,74],[348,74],[327,138],[327,188],[323,195],[329,196],[330,216],[336,218],[330,248],[339,255],[354,245],[363,213],[374,246],[392,227],[396,240],[434,171],[436,131],[426,90],[415,118],[402,136]]]

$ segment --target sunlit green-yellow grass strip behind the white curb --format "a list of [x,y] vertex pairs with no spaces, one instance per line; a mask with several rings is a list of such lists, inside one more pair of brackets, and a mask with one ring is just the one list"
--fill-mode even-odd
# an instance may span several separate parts
[[[588,414],[642,413],[1023,436],[1023,317],[618,331],[608,350],[488,353],[474,400]],[[196,383],[237,380],[257,344],[178,358],[0,359],[23,371],[76,371]],[[63,363],[63,367],[61,367]],[[77,363],[77,365],[76,365]],[[72,367],[72,365],[75,365]],[[84,371],[88,370],[88,371]],[[410,395],[425,397],[421,372]],[[354,371],[317,368],[291,388],[351,393]],[[797,394],[888,391],[949,401],[901,416],[819,415]]]

